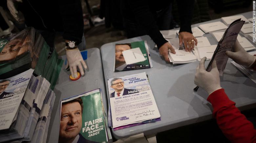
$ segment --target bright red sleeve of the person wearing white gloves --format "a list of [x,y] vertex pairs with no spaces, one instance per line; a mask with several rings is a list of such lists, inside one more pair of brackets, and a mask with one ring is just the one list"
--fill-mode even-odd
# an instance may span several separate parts
[[213,106],[213,117],[218,126],[231,142],[256,142],[253,124],[241,114],[235,103],[228,99],[223,88],[211,93],[207,101]]

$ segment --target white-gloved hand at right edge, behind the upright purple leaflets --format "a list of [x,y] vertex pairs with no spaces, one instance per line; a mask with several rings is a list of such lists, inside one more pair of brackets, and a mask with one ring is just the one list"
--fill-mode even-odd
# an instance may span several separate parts
[[234,46],[233,46],[233,51],[226,51],[226,55],[230,58],[232,58],[236,63],[250,67],[256,59],[256,56],[252,56],[248,54],[245,49],[240,45],[238,40],[236,40]]

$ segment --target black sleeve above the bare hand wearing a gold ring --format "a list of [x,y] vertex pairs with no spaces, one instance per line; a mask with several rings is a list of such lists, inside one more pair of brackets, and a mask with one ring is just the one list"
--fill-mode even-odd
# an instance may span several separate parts
[[177,3],[181,21],[181,28],[179,33],[184,31],[192,33],[191,21],[193,16],[195,0],[177,0]]

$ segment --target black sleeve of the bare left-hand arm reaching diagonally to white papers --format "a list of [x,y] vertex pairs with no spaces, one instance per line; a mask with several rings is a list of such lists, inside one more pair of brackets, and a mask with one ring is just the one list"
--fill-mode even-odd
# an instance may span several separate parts
[[129,0],[129,7],[135,15],[135,19],[139,26],[142,27],[150,38],[160,48],[167,42],[160,33],[153,14],[150,12],[147,0]]

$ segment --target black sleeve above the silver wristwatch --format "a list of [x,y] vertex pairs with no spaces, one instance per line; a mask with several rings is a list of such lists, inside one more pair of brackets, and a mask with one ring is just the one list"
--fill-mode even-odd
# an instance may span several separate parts
[[84,22],[80,0],[59,0],[58,3],[63,20],[63,39],[81,43]]

